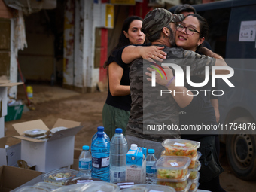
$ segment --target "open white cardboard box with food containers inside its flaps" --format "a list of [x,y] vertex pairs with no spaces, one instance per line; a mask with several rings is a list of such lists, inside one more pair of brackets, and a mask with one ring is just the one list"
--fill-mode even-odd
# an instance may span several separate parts
[[13,124],[21,140],[21,159],[29,165],[35,165],[35,170],[49,172],[73,164],[75,134],[81,130],[80,122],[58,119],[53,128],[65,126],[69,129],[60,130],[50,139],[39,140],[24,136],[24,131],[33,129],[49,130],[42,120],[31,120]]

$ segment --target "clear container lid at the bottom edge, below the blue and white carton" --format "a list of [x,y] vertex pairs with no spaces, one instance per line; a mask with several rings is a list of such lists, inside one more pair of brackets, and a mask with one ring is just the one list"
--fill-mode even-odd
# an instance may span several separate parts
[[161,192],[175,192],[175,189],[169,186],[163,186],[160,184],[136,184],[133,185],[133,187],[130,187],[129,189],[121,190],[123,192],[128,191],[142,191],[142,192],[150,192],[150,191],[161,191]]

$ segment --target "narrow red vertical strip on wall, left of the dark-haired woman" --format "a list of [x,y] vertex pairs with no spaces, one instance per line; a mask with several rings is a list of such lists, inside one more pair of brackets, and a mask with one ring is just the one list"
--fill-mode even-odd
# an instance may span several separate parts
[[99,81],[107,82],[107,69],[104,69],[104,63],[108,57],[108,29],[102,28],[101,44],[100,44],[100,67],[99,67]]

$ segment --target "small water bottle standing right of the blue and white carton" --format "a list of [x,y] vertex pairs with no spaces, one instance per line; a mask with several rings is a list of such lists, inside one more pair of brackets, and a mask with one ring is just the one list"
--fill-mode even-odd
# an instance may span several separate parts
[[148,149],[148,155],[146,158],[146,181],[147,184],[151,184],[152,178],[154,177],[154,174],[156,170],[152,169],[152,166],[154,166],[154,163],[157,161],[157,158],[154,156],[154,149],[149,148]]

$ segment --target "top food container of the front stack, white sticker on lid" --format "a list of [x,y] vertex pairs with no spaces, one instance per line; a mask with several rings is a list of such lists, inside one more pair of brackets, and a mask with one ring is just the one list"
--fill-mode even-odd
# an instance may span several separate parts
[[190,158],[165,156],[160,157],[152,169],[157,169],[157,178],[161,179],[181,179],[187,175]]

